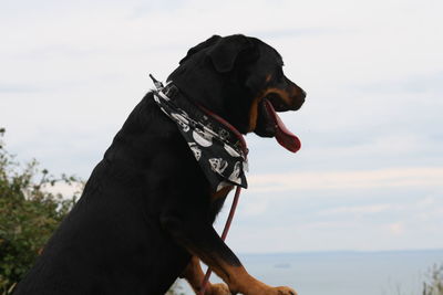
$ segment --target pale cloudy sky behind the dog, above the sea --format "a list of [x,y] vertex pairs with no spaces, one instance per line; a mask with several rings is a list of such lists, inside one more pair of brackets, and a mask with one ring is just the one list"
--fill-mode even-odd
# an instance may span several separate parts
[[[440,0],[0,2],[7,149],[87,179],[123,122],[213,34],[261,39],[307,93],[302,148],[246,137],[240,253],[443,249]],[[228,199],[216,228],[223,226]]]

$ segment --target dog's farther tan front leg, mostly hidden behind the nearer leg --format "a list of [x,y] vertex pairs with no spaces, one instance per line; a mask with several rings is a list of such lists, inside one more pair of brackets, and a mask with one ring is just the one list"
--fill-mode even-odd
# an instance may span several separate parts
[[[203,273],[200,261],[197,256],[193,256],[190,259],[189,264],[186,266],[185,271],[181,275],[181,277],[186,278],[189,285],[193,287],[195,294],[202,289],[202,282],[205,277]],[[230,295],[230,291],[226,284],[210,284],[207,283],[205,295]]]

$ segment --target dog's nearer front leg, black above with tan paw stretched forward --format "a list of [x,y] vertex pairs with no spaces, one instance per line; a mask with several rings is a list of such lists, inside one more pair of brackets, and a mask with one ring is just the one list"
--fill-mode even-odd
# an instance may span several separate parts
[[187,217],[164,214],[161,222],[173,240],[210,266],[225,281],[231,293],[296,295],[289,287],[270,287],[249,275],[214,228],[195,212]]

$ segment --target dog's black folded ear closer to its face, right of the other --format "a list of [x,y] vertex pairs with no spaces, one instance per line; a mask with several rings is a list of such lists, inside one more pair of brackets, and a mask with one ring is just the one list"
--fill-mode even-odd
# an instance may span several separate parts
[[258,53],[253,51],[255,44],[245,35],[229,35],[218,40],[214,46],[207,51],[207,55],[213,61],[215,69],[219,73],[227,73],[234,69],[236,61],[240,53],[251,53],[243,54],[244,60],[255,59]]

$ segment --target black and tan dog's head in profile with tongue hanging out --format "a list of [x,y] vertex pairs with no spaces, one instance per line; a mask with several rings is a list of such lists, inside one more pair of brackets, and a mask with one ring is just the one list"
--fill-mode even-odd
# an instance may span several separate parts
[[256,133],[296,151],[276,112],[297,110],[306,93],[282,71],[280,54],[255,38],[214,35],[192,48],[168,80],[239,131]]

